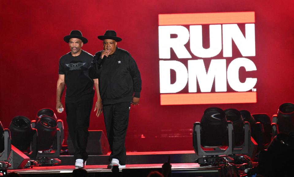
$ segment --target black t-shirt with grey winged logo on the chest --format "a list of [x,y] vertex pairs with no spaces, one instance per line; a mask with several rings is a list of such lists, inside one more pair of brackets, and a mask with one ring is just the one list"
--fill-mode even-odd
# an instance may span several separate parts
[[69,52],[60,58],[58,74],[65,74],[66,103],[93,99],[94,81],[87,72],[92,60],[93,55],[83,50],[78,56],[72,56]]

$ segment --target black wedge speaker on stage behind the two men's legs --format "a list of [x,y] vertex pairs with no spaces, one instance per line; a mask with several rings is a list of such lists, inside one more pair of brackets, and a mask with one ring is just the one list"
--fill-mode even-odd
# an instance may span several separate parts
[[[74,155],[74,146],[71,140],[71,136],[67,137],[67,148],[70,155]],[[105,155],[109,149],[108,140],[102,130],[90,130],[87,153],[88,155]]]

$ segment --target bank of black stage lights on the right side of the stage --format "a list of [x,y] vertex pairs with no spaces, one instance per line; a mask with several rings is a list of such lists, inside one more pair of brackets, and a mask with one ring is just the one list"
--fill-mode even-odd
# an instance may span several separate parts
[[289,175],[292,168],[287,166],[294,158],[294,104],[283,103],[272,120],[267,114],[210,107],[193,125],[193,147],[200,165],[231,163],[247,175]]

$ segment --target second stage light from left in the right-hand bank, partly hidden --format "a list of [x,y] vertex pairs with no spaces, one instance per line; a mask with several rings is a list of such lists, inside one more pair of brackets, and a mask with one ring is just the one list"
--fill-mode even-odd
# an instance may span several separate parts
[[224,112],[227,120],[233,122],[235,143],[233,154],[244,154],[254,160],[258,145],[251,137],[249,122],[244,122],[236,109],[227,109]]

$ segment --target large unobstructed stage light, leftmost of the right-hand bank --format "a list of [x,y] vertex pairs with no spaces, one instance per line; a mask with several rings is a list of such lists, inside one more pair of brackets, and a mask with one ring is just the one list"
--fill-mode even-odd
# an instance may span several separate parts
[[206,109],[201,121],[193,124],[193,148],[198,156],[232,154],[233,139],[233,125],[220,108]]

